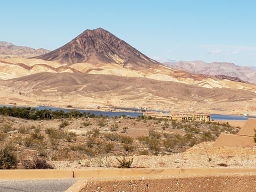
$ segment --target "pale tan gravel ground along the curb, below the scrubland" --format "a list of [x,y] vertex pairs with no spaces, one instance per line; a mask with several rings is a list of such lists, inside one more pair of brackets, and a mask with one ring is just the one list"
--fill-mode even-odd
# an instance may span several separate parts
[[[133,156],[131,167],[138,168],[254,168],[256,167],[256,149],[251,147],[212,147],[213,142],[203,142],[185,152],[172,155]],[[126,157],[126,159],[130,159]],[[99,156],[76,161],[51,161],[56,168],[105,168],[117,167],[116,156]],[[222,163],[221,165],[218,165]],[[224,165],[224,166],[223,166]],[[226,166],[225,166],[226,165]]]

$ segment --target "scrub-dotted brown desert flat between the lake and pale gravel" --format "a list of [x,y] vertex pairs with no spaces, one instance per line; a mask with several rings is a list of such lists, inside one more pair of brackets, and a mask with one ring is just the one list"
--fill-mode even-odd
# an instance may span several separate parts
[[[90,115],[86,113],[84,118],[47,121],[4,117],[0,120],[0,144],[3,146],[4,143],[11,142],[19,150],[25,151],[16,153],[13,149],[8,150],[9,154],[18,154],[16,159],[20,162],[11,168],[25,165],[23,160],[27,158],[30,161],[24,163],[30,164],[25,166],[35,167],[36,158],[74,160],[123,154],[168,155],[182,152],[200,142],[213,141],[221,132],[236,133],[239,130],[239,127],[232,127],[227,123],[180,122],[147,119],[143,116],[92,118],[88,117]],[[65,128],[60,127],[62,123]],[[128,127],[130,131],[127,131]],[[212,158],[209,156],[208,159]]]

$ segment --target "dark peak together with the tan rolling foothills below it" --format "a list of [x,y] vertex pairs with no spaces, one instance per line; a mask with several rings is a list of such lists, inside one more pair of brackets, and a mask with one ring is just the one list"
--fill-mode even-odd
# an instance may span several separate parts
[[137,102],[150,107],[185,104],[208,112],[221,102],[251,110],[243,102],[256,96],[254,84],[165,66],[102,28],[87,29],[39,56],[0,58],[0,78],[0,93],[9,95],[2,99],[21,103],[28,99],[27,104],[41,105],[43,101],[60,105],[66,98],[77,105],[81,101],[126,107]]

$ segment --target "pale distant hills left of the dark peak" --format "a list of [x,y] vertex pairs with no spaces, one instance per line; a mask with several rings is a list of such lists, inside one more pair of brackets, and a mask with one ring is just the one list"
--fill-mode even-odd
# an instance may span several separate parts
[[27,46],[17,46],[10,42],[0,41],[0,58],[32,57],[49,52],[44,48],[34,49]]

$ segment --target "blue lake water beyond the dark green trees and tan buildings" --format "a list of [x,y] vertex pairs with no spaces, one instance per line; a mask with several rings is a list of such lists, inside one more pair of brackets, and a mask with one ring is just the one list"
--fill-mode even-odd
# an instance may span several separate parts
[[[13,105],[0,105],[0,106],[7,106],[7,107],[13,107]],[[16,106],[16,105],[15,105]],[[24,107],[24,106],[16,106],[16,107]],[[137,116],[142,115],[143,112],[116,112],[116,111],[100,111],[100,110],[83,110],[83,109],[72,109],[72,108],[58,108],[58,107],[51,107],[51,106],[32,106],[31,108],[38,108],[40,109],[51,109],[53,111],[55,110],[63,110],[64,112],[70,111],[70,110],[78,110],[79,112],[90,112],[94,113],[96,116],[102,114],[104,116],[120,116],[122,114],[130,115],[130,116]],[[117,108],[117,109],[128,109],[128,110],[141,110],[137,108],[123,108],[123,107],[111,107],[111,108]],[[151,111],[151,110],[150,110]],[[167,111],[162,111],[167,112]],[[214,120],[247,120],[248,117],[243,115],[221,115],[221,114],[210,114],[210,119]]]

